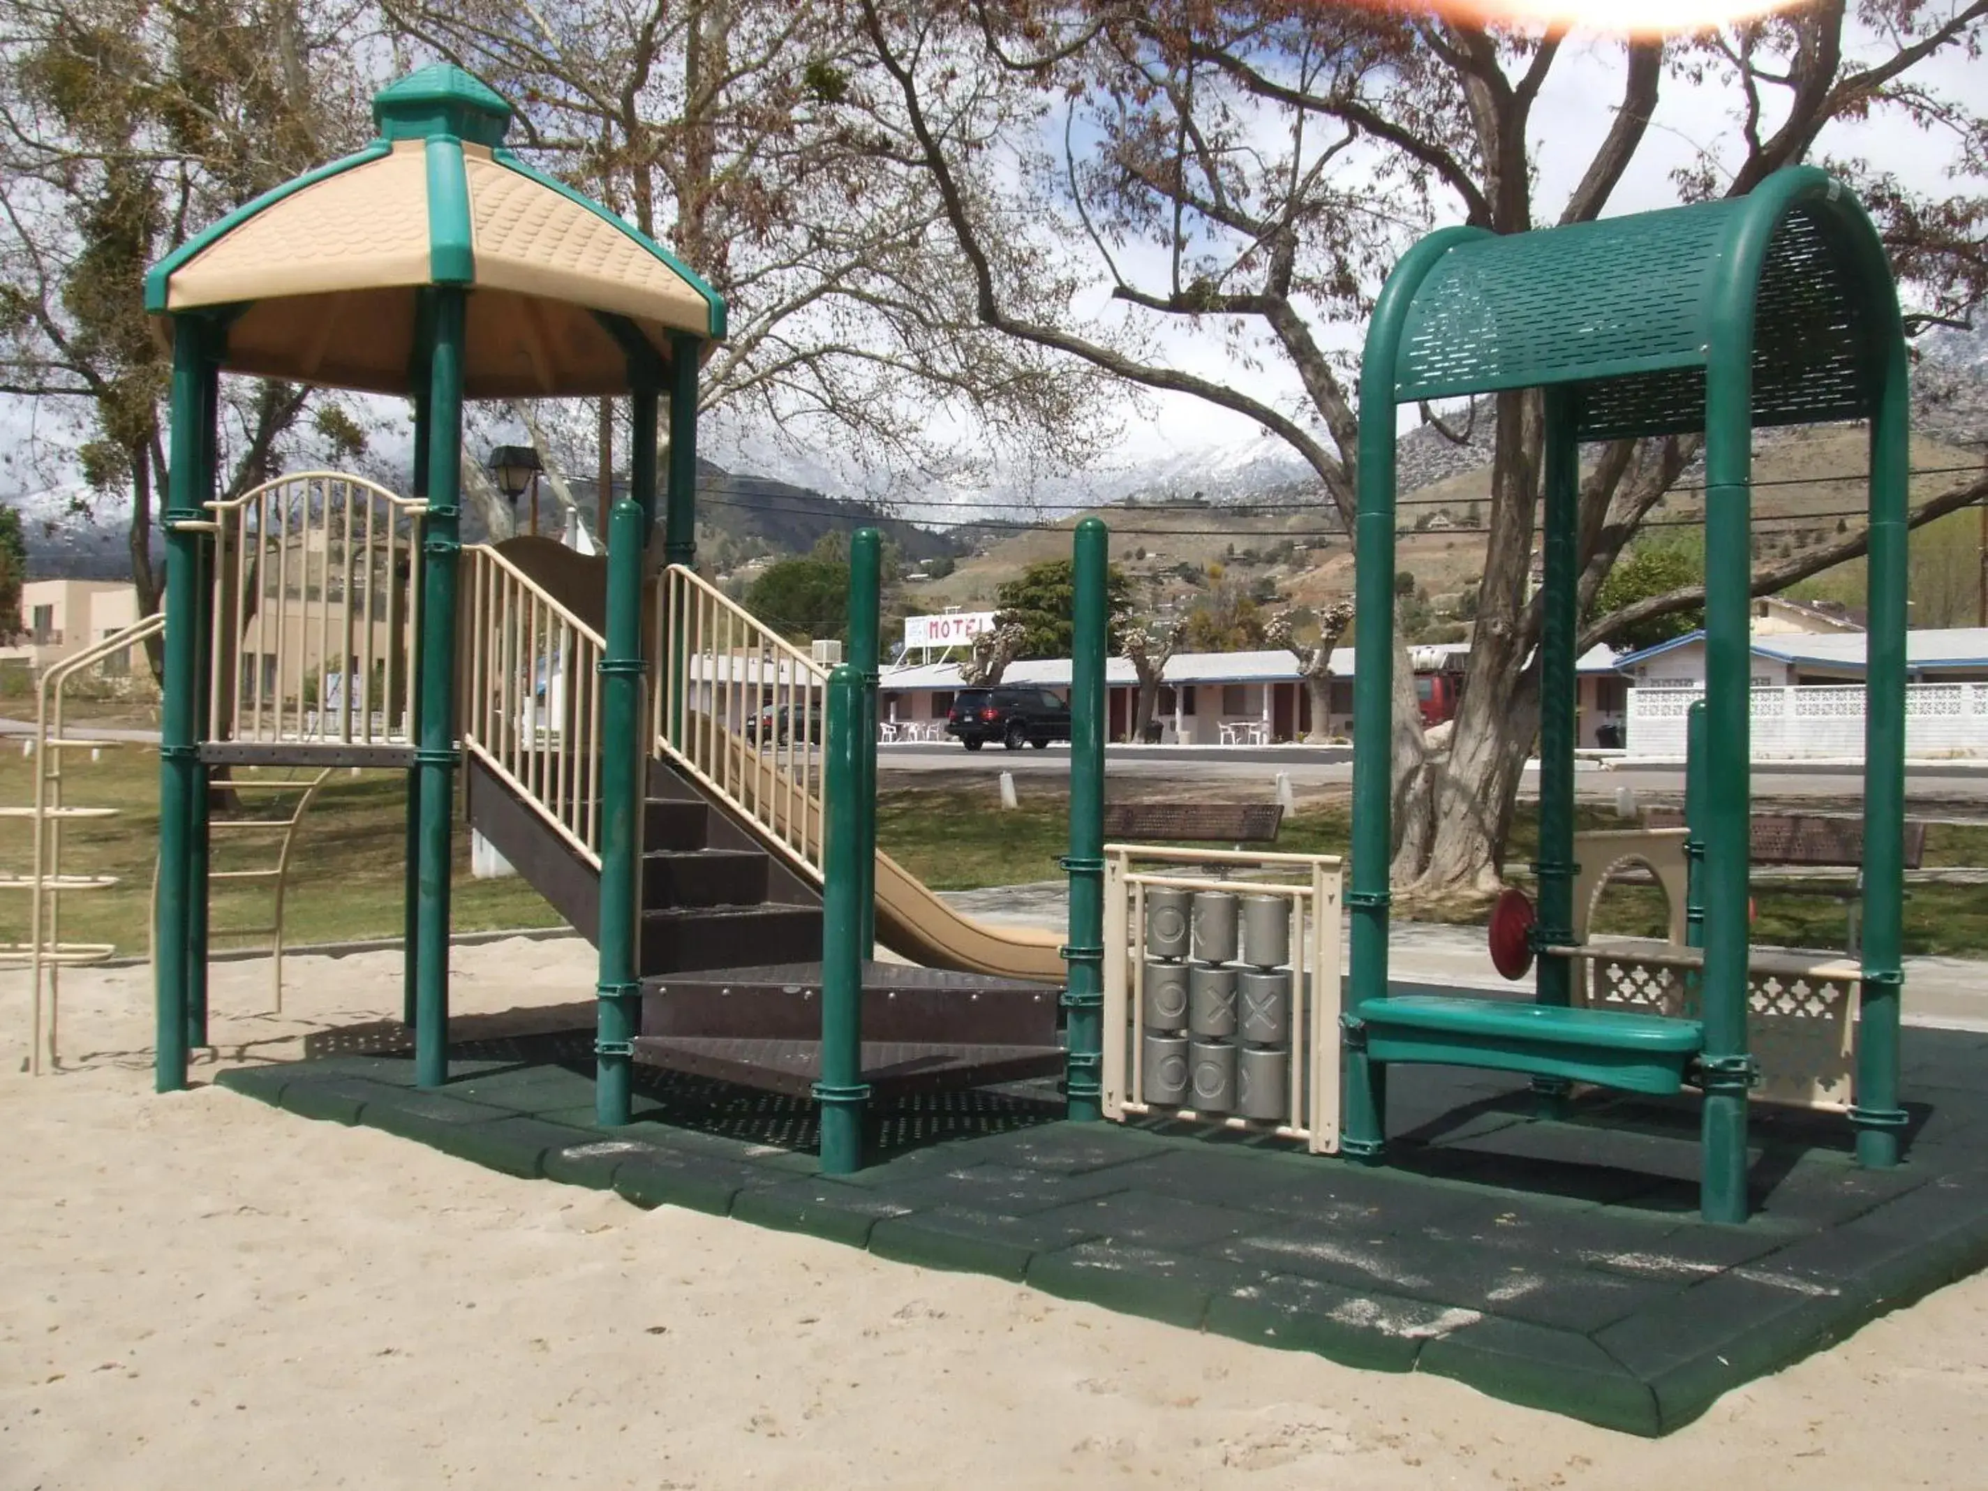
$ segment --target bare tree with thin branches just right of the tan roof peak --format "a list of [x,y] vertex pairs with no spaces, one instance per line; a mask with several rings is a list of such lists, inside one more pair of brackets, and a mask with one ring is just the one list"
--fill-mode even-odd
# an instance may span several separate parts
[[980,465],[1083,459],[1105,433],[1091,370],[976,320],[934,235],[932,185],[869,115],[855,82],[867,54],[833,4],[384,10],[412,46],[519,105],[525,155],[598,193],[726,296],[732,336],[700,384],[720,433],[767,431],[901,479],[966,475],[962,451]]

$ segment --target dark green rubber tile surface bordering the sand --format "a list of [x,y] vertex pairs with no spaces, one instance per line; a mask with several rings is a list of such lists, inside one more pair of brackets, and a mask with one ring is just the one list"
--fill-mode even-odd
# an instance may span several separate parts
[[[1569,1175],[1596,1129],[1517,1119],[1447,1131],[1451,1143],[1404,1169],[1334,1165],[1167,1125],[1020,1121],[948,1131],[829,1179],[793,1147],[791,1113],[773,1143],[740,1137],[753,1129],[732,1119],[672,1127],[696,1099],[680,1089],[638,1093],[636,1121],[600,1131],[590,1081],[557,1056],[531,1040],[463,1048],[455,1079],[437,1091],[414,1089],[406,1058],[350,1054],[239,1068],[217,1083],[505,1175],[1026,1282],[1344,1366],[1429,1372],[1636,1435],[1670,1433],[1732,1388],[1988,1266],[1988,1169],[1960,1143],[1988,1129],[1988,1083],[1946,1089],[1956,1107],[1978,1105],[1980,1123],[1972,1109],[1940,1115],[1934,1131],[1956,1137],[1903,1171],[1871,1175],[1811,1151],[1767,1187],[1753,1223],[1720,1229],[1672,1205],[1676,1181],[1656,1165],[1676,1167],[1676,1153],[1662,1151],[1664,1115],[1630,1131],[1622,1151],[1648,1155],[1654,1171],[1626,1179],[1592,1157],[1586,1173]],[[1988,1040],[1976,1040],[1974,1060],[1988,1072]],[[1429,1111],[1439,1099],[1419,1095]],[[1481,1103],[1483,1083],[1459,1083],[1453,1099],[1459,1111]],[[1527,1167],[1539,1191],[1475,1183]],[[1292,1246],[1306,1227],[1358,1248],[1308,1256]],[[1388,1250],[1413,1264],[1396,1284],[1354,1256]],[[1491,1292],[1527,1258],[1551,1274],[1549,1288],[1569,1284],[1569,1298],[1539,1308]]]

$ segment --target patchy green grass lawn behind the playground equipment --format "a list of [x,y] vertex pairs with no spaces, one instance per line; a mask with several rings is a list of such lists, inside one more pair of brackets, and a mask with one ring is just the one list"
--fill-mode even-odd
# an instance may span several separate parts
[[[0,749],[0,803],[32,801],[32,763],[18,746]],[[72,893],[62,899],[62,936],[80,942],[115,942],[121,952],[145,952],[153,859],[159,839],[159,757],[135,746],[105,749],[101,761],[82,751],[66,763],[72,805],[117,807],[117,817],[76,819],[64,825],[64,871],[115,875],[107,891]],[[296,769],[247,771],[248,781],[298,779]],[[294,793],[245,791],[245,811],[286,817]],[[318,787],[298,825],[290,859],[286,940],[338,942],[398,936],[406,865],[406,789],[398,771],[332,771]],[[996,785],[891,787],[879,795],[879,845],[912,875],[938,891],[974,891],[1020,885],[1062,875],[1058,857],[1068,849],[1068,799],[1028,785],[1022,807],[1002,811]],[[1612,813],[1584,811],[1582,827],[1620,827]],[[1344,803],[1322,803],[1284,819],[1278,849],[1344,855],[1352,821]],[[1533,855],[1537,821],[1521,805],[1513,829],[1513,865]],[[505,926],[557,926],[559,916],[525,881],[469,877],[469,833],[457,815],[455,930]],[[258,831],[219,831],[213,869],[264,869],[274,865],[280,837]],[[0,875],[24,873],[30,855],[26,819],[0,819]],[[1988,865],[1988,827],[1934,825],[1926,835],[1928,865]],[[1815,895],[1759,895],[1759,942],[1835,948],[1843,944],[1843,907]],[[217,948],[266,946],[264,930],[229,934],[229,928],[266,928],[268,881],[219,881],[215,885],[213,938]],[[1459,911],[1453,920],[1481,922],[1483,909]],[[26,938],[28,895],[0,893],[0,942]],[[1662,897],[1650,887],[1612,887],[1594,930],[1662,930]],[[1905,903],[1906,952],[1968,956],[1988,952],[1988,887],[1918,885]]]

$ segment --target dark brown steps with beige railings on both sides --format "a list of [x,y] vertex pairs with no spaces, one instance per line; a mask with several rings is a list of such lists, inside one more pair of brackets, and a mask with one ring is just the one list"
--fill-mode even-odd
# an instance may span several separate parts
[[[515,543],[515,541],[513,541]],[[577,559],[465,551],[471,827],[577,930],[600,914],[604,642]],[[672,648],[668,620],[682,646]],[[684,569],[652,592],[652,742],[642,811],[638,1060],[807,1095],[821,1034],[825,674]],[[865,1076],[912,1091],[1062,1070],[1056,988],[865,964]]]

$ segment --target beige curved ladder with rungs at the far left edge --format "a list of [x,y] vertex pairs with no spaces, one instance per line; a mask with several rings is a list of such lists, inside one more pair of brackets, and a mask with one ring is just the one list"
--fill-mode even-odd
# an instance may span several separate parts
[[[95,666],[103,658],[145,642],[165,630],[165,616],[147,616],[141,622],[111,632],[95,646],[64,658],[42,674],[36,698],[34,738],[34,801],[28,805],[0,807],[0,819],[32,819],[34,831],[30,853],[34,863],[26,873],[0,875],[0,889],[26,891],[28,938],[26,942],[0,944],[0,962],[26,962],[34,978],[34,1028],[30,1036],[28,1068],[40,1076],[60,1060],[58,1010],[62,1000],[62,968],[103,962],[117,952],[111,942],[64,942],[62,940],[62,897],[74,891],[107,891],[117,885],[115,875],[64,875],[62,841],[64,825],[76,819],[115,817],[115,807],[89,807],[70,803],[64,795],[62,761],[70,751],[85,749],[95,755],[101,749],[115,749],[119,742],[95,740],[87,734],[70,736],[64,730],[62,690],[78,672]],[[147,922],[149,932],[149,922]]]

